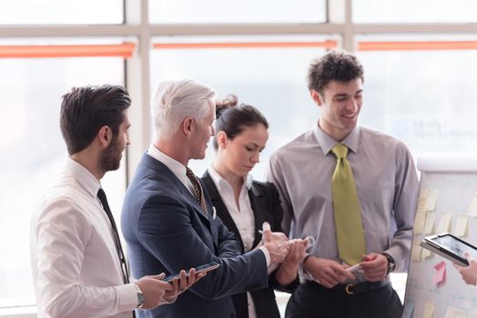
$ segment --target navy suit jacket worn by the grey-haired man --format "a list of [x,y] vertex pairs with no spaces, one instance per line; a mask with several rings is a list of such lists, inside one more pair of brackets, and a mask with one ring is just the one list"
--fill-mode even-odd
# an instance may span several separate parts
[[121,215],[133,276],[220,264],[175,303],[138,310],[139,317],[234,317],[230,295],[268,285],[264,253],[241,254],[234,234],[213,218],[205,187],[204,194],[208,214],[166,165],[144,154],[137,166]]

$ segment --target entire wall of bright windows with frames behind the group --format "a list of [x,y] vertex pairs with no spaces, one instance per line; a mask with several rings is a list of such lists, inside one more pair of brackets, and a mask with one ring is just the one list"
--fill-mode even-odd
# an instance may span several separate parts
[[[415,157],[472,151],[475,9],[473,0],[0,1],[0,316],[2,307],[35,302],[30,215],[66,156],[58,110],[71,86],[126,83],[132,95],[128,168],[102,182],[118,221],[127,177],[151,140],[151,91],[169,78],[211,84],[219,97],[236,93],[267,116],[269,143],[252,172],[259,180],[271,151],[316,124],[305,75],[330,48],[354,51],[365,67],[361,124],[400,137]],[[97,45],[86,48],[94,54],[79,57],[86,44]],[[211,148],[191,163],[197,174]]]

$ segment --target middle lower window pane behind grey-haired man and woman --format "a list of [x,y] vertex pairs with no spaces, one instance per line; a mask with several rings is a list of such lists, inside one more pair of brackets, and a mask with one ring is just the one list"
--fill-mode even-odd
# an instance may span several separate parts
[[[308,94],[308,65],[312,58],[324,53],[327,45],[337,45],[336,40],[320,36],[157,38],[155,43],[152,90],[165,79],[191,78],[210,84],[219,98],[234,93],[239,103],[259,108],[270,125],[269,142],[260,157],[262,163],[268,162],[272,150],[315,124],[318,108]],[[181,45],[193,48],[184,49]],[[213,157],[209,143],[206,160],[190,165],[201,175]],[[252,174],[263,179],[265,166],[259,164]]]

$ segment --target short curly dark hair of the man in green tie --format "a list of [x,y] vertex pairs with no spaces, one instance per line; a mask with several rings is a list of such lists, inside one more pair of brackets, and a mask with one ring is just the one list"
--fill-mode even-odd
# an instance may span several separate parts
[[364,70],[358,58],[349,52],[333,50],[311,61],[308,89],[323,94],[323,89],[331,81],[347,83],[356,78],[364,81]]

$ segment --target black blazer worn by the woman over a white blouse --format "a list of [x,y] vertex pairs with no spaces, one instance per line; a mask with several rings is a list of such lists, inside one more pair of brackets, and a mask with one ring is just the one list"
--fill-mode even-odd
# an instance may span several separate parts
[[[239,233],[239,229],[235,224],[232,216],[228,213],[228,209],[220,194],[216,184],[212,181],[210,174],[207,172],[202,176],[202,181],[208,189],[208,194],[210,195],[210,200],[217,210],[217,214],[222,219],[222,222],[228,227],[228,230],[232,231],[238,238],[240,242],[241,252],[244,253],[244,246],[242,238]],[[254,214],[255,219],[255,240],[253,246],[255,247],[261,241],[261,234],[259,234],[259,229],[261,229],[262,224],[267,221],[270,224],[271,230],[273,232],[283,232],[281,230],[281,220],[283,219],[283,210],[281,208],[279,200],[279,192],[274,184],[270,183],[261,183],[258,181],[253,181],[249,189],[249,199],[251,208]],[[277,302],[275,301],[275,293],[273,289],[278,289],[282,292],[291,293],[299,285],[299,278],[297,278],[293,283],[290,283],[288,286],[280,286],[279,283],[275,280],[275,275],[272,273],[269,276],[269,287],[262,288],[256,291],[252,291],[251,297],[253,303],[255,304],[255,309],[257,316],[259,318],[279,318],[279,308]],[[235,306],[235,311],[239,318],[248,318],[249,317],[249,302],[247,299],[247,293],[238,293],[232,296],[233,303]]]

